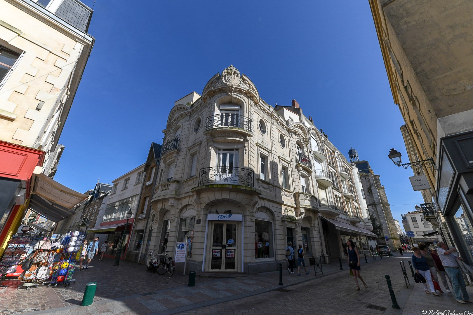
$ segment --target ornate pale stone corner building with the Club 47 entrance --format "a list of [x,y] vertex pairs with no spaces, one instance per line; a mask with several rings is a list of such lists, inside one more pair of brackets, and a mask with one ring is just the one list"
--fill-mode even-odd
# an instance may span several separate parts
[[176,101],[164,134],[150,250],[185,242],[190,271],[257,273],[276,270],[289,241],[338,259],[343,224],[367,242],[351,164],[295,100],[273,108],[235,67]]

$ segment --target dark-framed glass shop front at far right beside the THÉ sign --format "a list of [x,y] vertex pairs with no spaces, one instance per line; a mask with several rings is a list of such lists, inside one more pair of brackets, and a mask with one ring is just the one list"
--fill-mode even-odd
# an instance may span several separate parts
[[437,195],[432,201],[445,223],[442,234],[473,264],[473,131],[440,139]]

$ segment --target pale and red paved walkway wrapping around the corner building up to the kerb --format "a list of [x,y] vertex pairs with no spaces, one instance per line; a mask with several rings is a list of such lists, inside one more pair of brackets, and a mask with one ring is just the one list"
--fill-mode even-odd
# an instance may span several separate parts
[[[377,262],[379,262],[379,258]],[[384,261],[384,260],[383,260]],[[362,258],[364,262],[364,257]],[[373,261],[368,257],[369,264],[372,264]],[[97,262],[97,270],[100,268],[100,265]],[[121,263],[122,264],[122,263]],[[343,271],[348,272],[347,262],[343,262]],[[364,265],[365,263],[362,263]],[[145,266],[133,264],[134,268],[142,269]],[[106,270],[109,270],[110,275],[113,274],[113,266],[106,266]],[[120,266],[122,267],[122,266]],[[286,267],[283,265],[283,268]],[[368,267],[369,268],[369,267]],[[340,272],[340,264],[335,262],[334,264],[324,264],[324,275],[320,271],[317,272],[317,275],[314,276],[314,268],[310,266],[310,274],[308,276],[297,276],[295,274],[289,274],[287,270],[283,271],[283,284],[284,286],[279,286],[279,272],[265,272],[258,275],[252,275],[248,277],[239,277],[239,278],[225,278],[225,279],[205,279],[197,278],[195,287],[187,287],[187,277],[179,276],[175,274],[174,277],[170,279],[170,282],[166,283],[166,288],[162,288],[161,285],[150,284],[148,286],[143,286],[143,279],[164,279],[164,276],[159,276],[156,274],[149,273],[145,278],[141,277],[140,285],[135,285],[132,288],[130,285],[125,285],[123,287],[123,281],[121,283],[113,283],[108,286],[108,289],[124,292],[124,291],[135,291],[135,294],[128,296],[111,296],[112,294],[99,293],[94,299],[94,304],[92,306],[81,307],[80,298],[68,299],[67,301],[63,300],[62,307],[58,304],[55,307],[49,307],[44,310],[37,310],[34,314],[56,314],[56,315],[72,315],[72,314],[123,314],[123,315],[146,315],[146,314],[176,314],[183,311],[192,310],[195,308],[200,308],[203,306],[210,306],[219,304],[222,302],[227,302],[239,298],[245,298],[249,296],[254,296],[257,294],[270,292],[273,290],[281,289],[286,286],[292,286],[298,283],[303,283],[306,281],[311,281],[314,279],[320,279],[321,277]],[[104,271],[104,270],[103,270]],[[79,272],[79,271],[77,271]],[[87,273],[89,270],[80,271],[80,273]],[[107,277],[105,275],[105,277]],[[176,277],[176,278],[175,278]],[[179,278],[180,277],[180,278]],[[179,285],[175,285],[177,282]],[[167,286],[169,284],[169,286]],[[79,285],[79,283],[77,284]],[[74,284],[67,288],[73,288]],[[42,288],[35,288],[42,289]],[[28,291],[33,293],[35,289],[29,289]],[[53,289],[53,288],[45,288]],[[153,290],[155,289],[155,290]],[[55,290],[55,289],[53,289]],[[17,290],[26,292],[26,290]],[[98,291],[98,288],[97,288]],[[28,293],[29,293],[28,292]],[[83,290],[82,290],[83,292]],[[1,294],[1,293],[0,293]],[[1,297],[1,295],[0,295]],[[0,302],[2,302],[0,300]],[[66,305],[68,303],[68,305]],[[14,312],[10,311],[0,311],[1,315],[4,314],[18,314],[24,313],[31,310],[20,310],[17,309]]]

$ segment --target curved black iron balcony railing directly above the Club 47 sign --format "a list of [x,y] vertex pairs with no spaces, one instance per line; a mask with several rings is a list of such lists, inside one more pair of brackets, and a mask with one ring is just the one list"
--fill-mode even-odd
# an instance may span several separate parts
[[254,172],[241,167],[205,167],[201,169],[199,185],[230,184],[253,187]]

